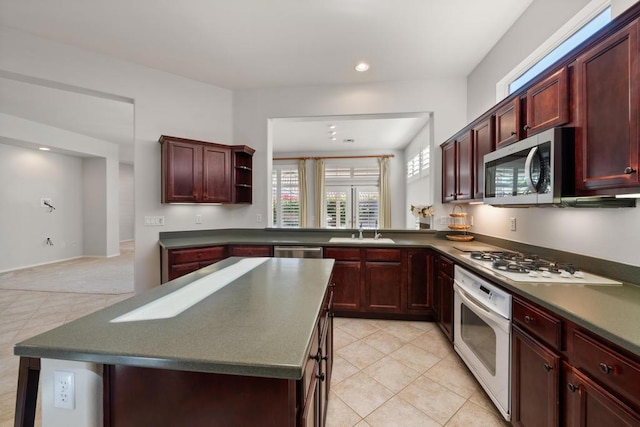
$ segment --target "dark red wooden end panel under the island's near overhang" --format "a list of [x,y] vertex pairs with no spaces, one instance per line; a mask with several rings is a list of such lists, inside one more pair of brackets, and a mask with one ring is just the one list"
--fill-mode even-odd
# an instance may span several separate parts
[[294,427],[296,381],[105,366],[105,427]]

